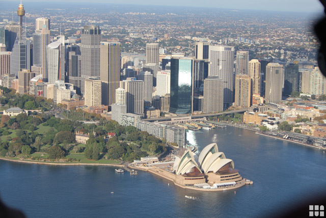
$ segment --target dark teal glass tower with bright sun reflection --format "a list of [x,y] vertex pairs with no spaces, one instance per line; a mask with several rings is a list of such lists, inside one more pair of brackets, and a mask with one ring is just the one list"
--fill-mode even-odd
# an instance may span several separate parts
[[193,59],[171,58],[170,112],[193,111]]

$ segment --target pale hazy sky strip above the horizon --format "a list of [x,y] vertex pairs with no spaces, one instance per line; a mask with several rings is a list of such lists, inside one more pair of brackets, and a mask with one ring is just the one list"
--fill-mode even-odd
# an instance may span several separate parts
[[[17,1],[17,0],[15,0]],[[19,1],[18,1],[19,2]],[[44,0],[23,0],[24,2],[44,2]],[[323,6],[318,0],[57,0],[56,2],[71,3],[111,3],[133,5],[165,5],[165,6],[191,6],[191,7],[215,7],[228,9],[255,9],[268,11],[293,11],[293,12],[317,12],[323,11]]]

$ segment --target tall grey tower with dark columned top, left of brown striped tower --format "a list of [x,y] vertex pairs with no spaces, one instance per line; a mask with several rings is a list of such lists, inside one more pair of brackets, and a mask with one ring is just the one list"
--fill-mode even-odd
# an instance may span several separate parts
[[82,41],[82,94],[85,93],[84,80],[89,77],[100,78],[100,42],[102,40],[99,26],[84,26],[80,36]]

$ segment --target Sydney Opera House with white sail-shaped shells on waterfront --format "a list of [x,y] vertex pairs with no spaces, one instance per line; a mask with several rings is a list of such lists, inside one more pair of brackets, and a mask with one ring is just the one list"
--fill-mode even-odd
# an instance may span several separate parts
[[172,180],[180,187],[191,189],[228,190],[252,184],[252,181],[240,176],[234,169],[233,160],[219,152],[216,143],[206,146],[199,156],[190,150],[181,157],[175,156],[173,172],[158,168],[151,172]]

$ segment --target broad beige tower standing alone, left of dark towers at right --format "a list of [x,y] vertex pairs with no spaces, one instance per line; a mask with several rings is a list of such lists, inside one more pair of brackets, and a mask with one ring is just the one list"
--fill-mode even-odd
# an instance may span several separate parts
[[283,84],[283,65],[279,63],[268,63],[266,66],[266,103],[279,103],[282,101]]

